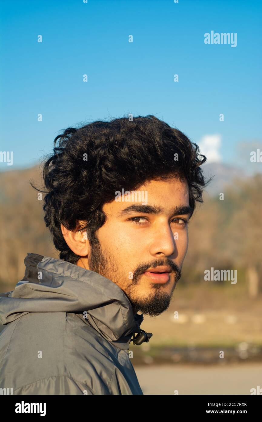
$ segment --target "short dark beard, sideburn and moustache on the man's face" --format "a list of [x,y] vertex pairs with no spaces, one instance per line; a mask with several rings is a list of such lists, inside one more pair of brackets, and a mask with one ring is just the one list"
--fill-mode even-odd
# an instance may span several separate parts
[[[90,244],[90,270],[95,271],[117,284],[130,300],[134,313],[140,311],[142,314],[156,317],[168,309],[176,283],[181,277],[181,271],[173,261],[162,259],[140,264],[132,274],[130,282],[129,280],[126,282],[127,277],[124,275],[123,277],[120,276],[117,262],[113,257],[111,257],[110,254],[107,254],[107,256],[103,254],[101,244],[95,235]],[[146,297],[139,296],[138,282],[140,277],[148,268],[155,268],[158,265],[168,265],[171,268],[172,273],[175,274],[175,282],[171,294],[169,295],[168,293],[161,291],[162,284],[154,284],[152,292],[149,295],[147,294]],[[171,282],[171,280],[169,282]]]

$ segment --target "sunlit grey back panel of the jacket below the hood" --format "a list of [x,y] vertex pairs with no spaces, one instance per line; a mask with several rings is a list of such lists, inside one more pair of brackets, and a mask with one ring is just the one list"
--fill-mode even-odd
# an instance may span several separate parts
[[0,334],[0,387],[24,391],[16,394],[57,394],[42,390],[60,387],[60,394],[70,394],[63,391],[78,385],[72,394],[110,394],[113,371],[99,333],[75,314],[29,313]]

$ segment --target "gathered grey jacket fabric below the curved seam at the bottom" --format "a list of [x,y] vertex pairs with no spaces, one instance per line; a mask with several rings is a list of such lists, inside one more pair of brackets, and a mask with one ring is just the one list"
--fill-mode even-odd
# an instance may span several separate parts
[[90,387],[68,376],[51,376],[14,390],[16,395],[94,395]]

